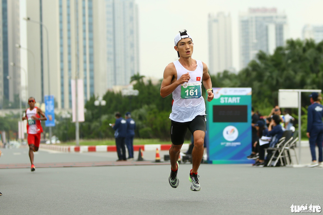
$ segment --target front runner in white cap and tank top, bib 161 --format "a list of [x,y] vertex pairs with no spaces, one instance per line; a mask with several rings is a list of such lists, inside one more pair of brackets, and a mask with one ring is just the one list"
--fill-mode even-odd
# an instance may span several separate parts
[[165,68],[160,91],[161,97],[172,94],[174,100],[169,117],[172,140],[172,147],[169,149],[171,160],[169,183],[173,188],[177,188],[179,184],[177,160],[188,128],[194,138],[193,168],[189,180],[192,182],[191,190],[199,191],[201,186],[197,170],[203,157],[206,131],[205,102],[201,92],[202,81],[207,89],[207,101],[211,101],[214,97],[212,82],[206,64],[192,59],[193,41],[186,30],[175,36],[174,44],[174,49],[180,59],[168,64]]

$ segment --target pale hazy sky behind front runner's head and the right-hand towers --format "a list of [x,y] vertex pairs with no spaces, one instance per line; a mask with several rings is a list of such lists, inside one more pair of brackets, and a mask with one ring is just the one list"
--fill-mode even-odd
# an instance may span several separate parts
[[162,78],[177,60],[174,36],[186,29],[194,43],[193,58],[209,63],[208,14],[230,13],[233,67],[239,68],[238,17],[249,7],[276,7],[285,12],[289,37],[301,38],[305,24],[323,25],[323,0],[136,0],[139,10],[140,74]]

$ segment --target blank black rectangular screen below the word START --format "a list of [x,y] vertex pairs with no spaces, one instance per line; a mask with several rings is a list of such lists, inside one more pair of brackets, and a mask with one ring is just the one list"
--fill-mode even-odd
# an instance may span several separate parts
[[214,105],[213,122],[248,122],[247,105]]

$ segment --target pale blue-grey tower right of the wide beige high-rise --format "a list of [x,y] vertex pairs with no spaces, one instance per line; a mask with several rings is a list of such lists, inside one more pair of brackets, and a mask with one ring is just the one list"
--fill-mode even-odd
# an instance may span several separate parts
[[139,73],[138,8],[134,0],[105,0],[106,89],[129,85]]

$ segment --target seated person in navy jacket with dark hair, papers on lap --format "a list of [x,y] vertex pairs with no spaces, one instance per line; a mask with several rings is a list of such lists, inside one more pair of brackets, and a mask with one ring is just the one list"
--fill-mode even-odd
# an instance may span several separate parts
[[274,114],[271,118],[271,121],[268,125],[268,128],[264,130],[263,135],[267,137],[271,137],[271,140],[269,143],[266,143],[264,145],[259,146],[258,152],[259,152],[259,161],[257,165],[259,167],[265,166],[265,148],[268,147],[275,147],[275,145],[278,143],[278,140],[283,136],[284,129],[280,125],[281,118],[279,115]]

